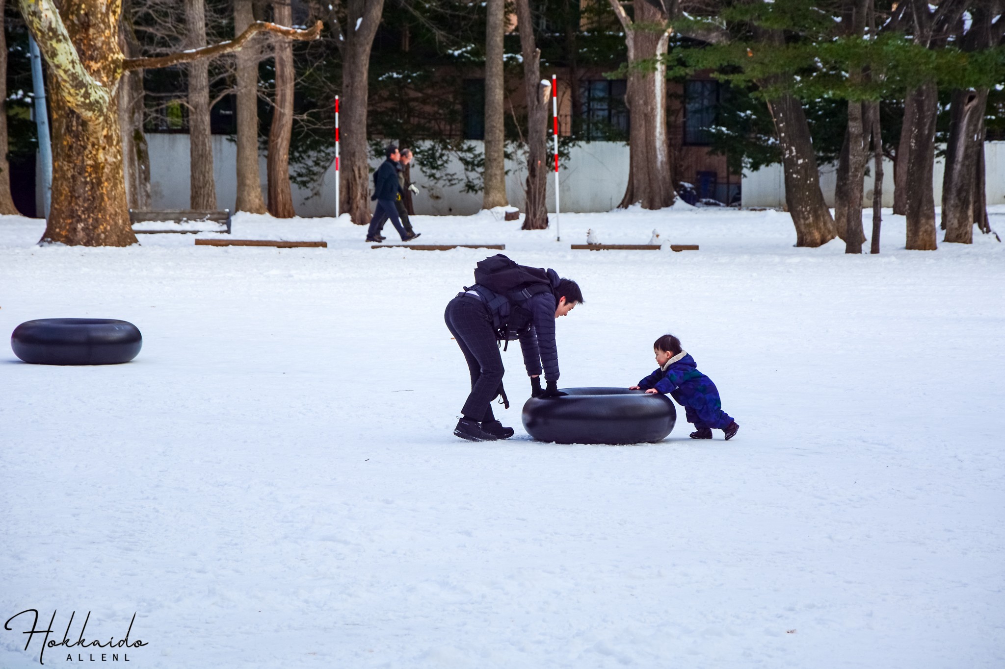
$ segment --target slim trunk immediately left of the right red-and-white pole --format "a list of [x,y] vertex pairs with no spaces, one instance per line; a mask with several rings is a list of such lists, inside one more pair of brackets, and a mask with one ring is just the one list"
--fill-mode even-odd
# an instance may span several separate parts
[[541,81],[541,49],[534,38],[530,0],[517,0],[517,22],[527,92],[527,185],[523,230],[548,228],[548,114]]

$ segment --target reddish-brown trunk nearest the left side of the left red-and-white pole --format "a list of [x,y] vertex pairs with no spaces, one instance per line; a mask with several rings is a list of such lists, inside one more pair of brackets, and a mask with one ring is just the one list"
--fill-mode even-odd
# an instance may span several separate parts
[[[290,0],[273,0],[272,15],[276,23],[288,25],[292,20]],[[268,130],[268,213],[277,219],[291,219],[293,194],[289,186],[289,140],[293,136],[293,47],[285,41],[273,40],[275,55],[275,100],[272,125]]]

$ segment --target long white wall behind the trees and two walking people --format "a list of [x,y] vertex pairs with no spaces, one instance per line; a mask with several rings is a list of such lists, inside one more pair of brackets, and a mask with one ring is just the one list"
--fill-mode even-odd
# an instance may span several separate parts
[[[150,133],[150,179],[155,210],[187,209],[189,206],[189,137],[187,134]],[[481,142],[474,142],[479,148]],[[551,153],[549,153],[549,157]],[[237,197],[235,164],[237,146],[224,135],[213,135],[213,175],[216,180],[216,200],[220,209],[234,208]],[[376,168],[379,159],[372,161]],[[474,214],[481,209],[480,194],[465,194],[461,187],[441,188],[431,184],[422,174],[422,163],[413,162],[412,181],[420,185],[422,194],[415,199],[417,214]],[[452,160],[448,170],[462,174],[459,160]],[[514,207],[524,205],[526,164],[507,162],[507,193]],[[265,158],[258,164],[262,192],[265,191]],[[549,211],[554,211],[555,177],[548,178]],[[628,183],[628,146],[620,142],[594,141],[572,149],[568,166],[559,172],[562,211],[607,212],[621,202]],[[299,216],[333,216],[335,214],[335,168],[325,174],[314,191],[293,187],[293,208]]]

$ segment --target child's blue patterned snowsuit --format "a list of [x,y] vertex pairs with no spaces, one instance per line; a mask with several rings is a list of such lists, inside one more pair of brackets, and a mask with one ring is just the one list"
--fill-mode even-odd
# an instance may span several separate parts
[[723,410],[719,388],[697,370],[694,358],[687,351],[680,351],[670,358],[666,365],[639,381],[638,386],[643,390],[655,388],[669,393],[677,404],[684,407],[687,422],[693,423],[697,429],[723,429],[733,422],[733,418]]

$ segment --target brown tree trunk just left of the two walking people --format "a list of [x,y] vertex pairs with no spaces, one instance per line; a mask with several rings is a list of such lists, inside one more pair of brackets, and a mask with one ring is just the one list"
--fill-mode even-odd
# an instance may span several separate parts
[[[370,149],[367,145],[370,49],[380,24],[384,0],[346,3],[346,31],[341,43],[342,98],[339,134],[342,152],[342,203],[353,223],[370,223]],[[335,27],[338,23],[335,22]]]

